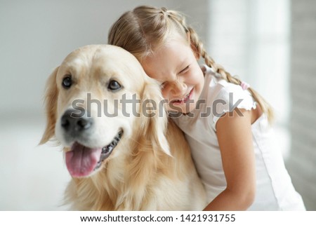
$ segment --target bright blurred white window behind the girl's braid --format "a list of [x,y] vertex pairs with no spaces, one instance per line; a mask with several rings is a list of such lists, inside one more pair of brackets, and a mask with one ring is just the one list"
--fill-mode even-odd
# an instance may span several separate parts
[[209,1],[209,55],[275,109],[277,143],[289,154],[289,0]]

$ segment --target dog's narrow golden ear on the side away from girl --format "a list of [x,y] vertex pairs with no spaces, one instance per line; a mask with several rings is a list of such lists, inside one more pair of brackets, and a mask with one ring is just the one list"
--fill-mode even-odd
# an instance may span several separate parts
[[41,142],[39,144],[44,144],[48,142],[51,137],[55,134],[55,122],[56,122],[56,111],[57,111],[57,97],[58,89],[56,86],[56,75],[59,67],[56,67],[49,76],[46,83],[45,91],[45,109],[46,109],[46,129],[44,131],[43,137],[41,137]]

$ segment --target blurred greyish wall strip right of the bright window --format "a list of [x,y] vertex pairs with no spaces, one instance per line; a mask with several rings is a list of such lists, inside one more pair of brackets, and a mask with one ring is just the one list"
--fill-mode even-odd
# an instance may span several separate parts
[[291,1],[291,134],[288,163],[308,210],[316,210],[316,1]]

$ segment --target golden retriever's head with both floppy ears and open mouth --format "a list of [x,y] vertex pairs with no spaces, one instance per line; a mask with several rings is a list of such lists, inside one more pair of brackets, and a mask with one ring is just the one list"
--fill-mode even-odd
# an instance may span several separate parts
[[122,48],[74,50],[48,78],[45,102],[47,126],[40,144],[58,139],[73,177],[92,175],[128,154],[124,149],[139,135],[169,154],[159,85]]

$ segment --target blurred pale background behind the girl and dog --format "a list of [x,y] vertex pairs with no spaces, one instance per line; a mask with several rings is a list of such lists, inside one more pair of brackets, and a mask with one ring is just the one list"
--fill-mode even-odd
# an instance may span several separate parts
[[38,146],[46,79],[75,48],[107,43],[141,4],[183,11],[209,55],[274,107],[276,142],[316,210],[316,1],[0,0],[0,210],[65,210],[60,146]]

